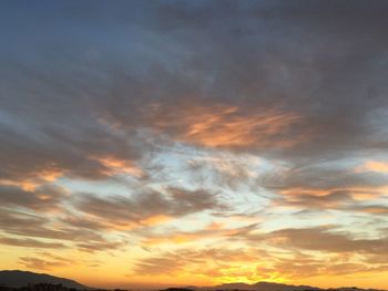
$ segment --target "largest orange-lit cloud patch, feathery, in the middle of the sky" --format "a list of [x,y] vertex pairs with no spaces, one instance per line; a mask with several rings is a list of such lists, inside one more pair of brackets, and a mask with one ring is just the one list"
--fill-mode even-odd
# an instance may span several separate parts
[[154,117],[153,126],[191,144],[241,148],[289,147],[300,142],[300,137],[287,139],[284,136],[292,125],[300,122],[302,116],[294,112],[269,108],[251,113],[237,106],[192,104],[172,112]]

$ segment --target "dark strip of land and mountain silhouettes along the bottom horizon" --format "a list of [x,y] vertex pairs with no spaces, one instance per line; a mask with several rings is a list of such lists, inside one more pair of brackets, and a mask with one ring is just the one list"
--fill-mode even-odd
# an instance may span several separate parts
[[[44,273],[27,271],[0,271],[0,291],[106,291],[90,288],[76,281]],[[124,291],[114,289],[114,291]],[[169,288],[160,291],[384,291],[377,289],[330,288],[320,289],[309,285],[290,285],[270,282],[254,284],[228,283],[215,287]]]

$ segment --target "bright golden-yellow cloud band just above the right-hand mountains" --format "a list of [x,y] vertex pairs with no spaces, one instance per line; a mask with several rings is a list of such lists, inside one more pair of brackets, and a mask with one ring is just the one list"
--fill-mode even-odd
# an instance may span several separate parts
[[[294,241],[289,243],[287,240]],[[269,279],[305,279],[321,276],[384,272],[382,240],[356,240],[344,233],[317,229],[283,229],[261,237],[244,249],[180,248],[143,258],[133,267],[137,276],[170,277],[201,273],[210,278],[241,278],[257,282]],[[274,249],[275,247],[275,249]],[[295,249],[292,249],[295,248]],[[321,256],[325,252],[325,256]],[[328,253],[327,253],[328,252]]]

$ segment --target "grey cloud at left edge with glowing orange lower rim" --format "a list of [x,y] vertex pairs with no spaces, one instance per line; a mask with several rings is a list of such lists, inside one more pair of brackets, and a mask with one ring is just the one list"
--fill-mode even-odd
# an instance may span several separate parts
[[[32,102],[31,100],[27,102]],[[53,110],[61,106],[55,103],[49,104]],[[84,121],[80,121],[83,117],[73,113],[72,108],[67,113],[69,116],[75,114],[74,123],[61,123],[53,117],[50,126],[43,126],[40,122],[44,124],[44,118],[52,116],[37,112],[39,118],[23,116],[21,128],[13,124],[13,114],[7,123],[1,123],[0,116],[0,158],[3,165],[0,170],[0,184],[33,190],[60,177],[93,180],[119,174],[142,176],[135,164],[140,153],[134,149],[136,145],[133,142],[100,124],[95,118],[91,119],[84,115]],[[84,126],[76,126],[76,123]],[[118,167],[121,167],[121,170],[118,170]]]

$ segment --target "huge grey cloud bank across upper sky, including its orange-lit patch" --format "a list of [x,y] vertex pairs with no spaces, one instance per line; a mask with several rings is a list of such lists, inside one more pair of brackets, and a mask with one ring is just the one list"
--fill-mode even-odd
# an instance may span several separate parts
[[[134,135],[144,127],[198,146],[285,155],[297,162],[372,147],[384,142],[375,135],[379,128],[371,124],[374,113],[387,105],[381,77],[386,69],[376,62],[386,44],[379,6],[346,7],[344,22],[341,3],[154,3],[136,8],[149,18],[131,20],[124,20],[120,9],[106,11],[95,3],[109,28],[109,19],[123,19],[123,30],[139,48],[115,51],[93,38],[82,40],[78,31],[80,43],[70,52],[37,52],[50,55],[39,66],[8,63],[11,72],[3,82],[20,85],[4,86],[7,96],[18,96],[2,100],[7,123],[13,125],[12,131],[4,126],[4,138],[16,146],[6,152],[27,147],[23,163],[31,167],[53,162],[69,175],[96,178],[104,177],[104,166],[89,160],[90,154],[114,154],[133,163],[139,148],[121,134]],[[69,18],[63,7],[55,11],[58,19]],[[81,14],[88,17],[73,20],[100,23],[93,13]],[[54,23],[53,29],[63,29],[60,21]],[[125,29],[133,23],[139,30]],[[29,40],[21,31],[18,35],[19,42]],[[31,48],[41,48],[38,35]],[[58,44],[64,41],[52,38]],[[91,46],[104,52],[92,63],[84,53]],[[17,113],[22,116],[18,126],[12,118]],[[50,125],[44,119],[51,119]],[[115,125],[115,131],[99,121]],[[37,142],[27,136],[28,129],[47,138]],[[32,152],[40,163],[32,164]]]

